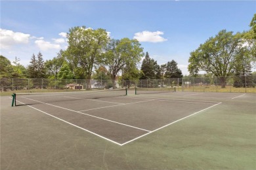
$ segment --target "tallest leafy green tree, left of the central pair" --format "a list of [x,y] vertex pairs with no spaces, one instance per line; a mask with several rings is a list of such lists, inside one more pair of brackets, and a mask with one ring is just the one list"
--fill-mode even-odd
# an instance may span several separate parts
[[103,47],[109,39],[108,33],[104,29],[72,27],[67,38],[68,48],[65,56],[72,63],[75,74],[79,74],[79,78],[87,79],[87,89],[89,89],[93,67],[102,56]]

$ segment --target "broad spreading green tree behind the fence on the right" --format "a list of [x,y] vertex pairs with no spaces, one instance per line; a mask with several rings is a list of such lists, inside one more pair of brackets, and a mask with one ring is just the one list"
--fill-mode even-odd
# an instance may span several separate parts
[[233,35],[225,29],[219,31],[215,37],[210,37],[204,44],[190,53],[188,71],[190,75],[197,75],[199,71],[206,71],[215,76],[221,76],[222,88],[226,84],[226,76],[234,73],[236,56],[242,46],[241,34]]

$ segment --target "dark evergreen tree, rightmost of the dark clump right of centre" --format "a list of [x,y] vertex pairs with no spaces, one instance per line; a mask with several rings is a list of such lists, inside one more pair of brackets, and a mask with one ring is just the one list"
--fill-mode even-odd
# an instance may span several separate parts
[[181,78],[182,72],[178,68],[178,63],[174,60],[168,61],[166,65],[165,78]]

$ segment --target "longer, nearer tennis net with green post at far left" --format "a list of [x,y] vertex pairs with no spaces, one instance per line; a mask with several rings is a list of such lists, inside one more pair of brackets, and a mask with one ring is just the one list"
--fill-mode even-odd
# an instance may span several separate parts
[[123,95],[127,95],[126,89],[88,90],[85,92],[14,93],[12,95],[12,106],[54,102],[68,103],[70,101],[119,97]]

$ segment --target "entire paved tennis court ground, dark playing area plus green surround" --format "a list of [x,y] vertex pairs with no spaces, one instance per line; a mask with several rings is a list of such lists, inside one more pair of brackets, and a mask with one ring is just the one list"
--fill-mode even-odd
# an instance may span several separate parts
[[255,94],[139,92],[1,97],[1,168],[256,166]]

